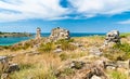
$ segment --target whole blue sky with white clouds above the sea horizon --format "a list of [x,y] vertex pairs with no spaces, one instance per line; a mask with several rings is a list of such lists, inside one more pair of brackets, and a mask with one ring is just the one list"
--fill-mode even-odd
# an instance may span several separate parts
[[0,0],[0,31],[130,32],[130,0]]

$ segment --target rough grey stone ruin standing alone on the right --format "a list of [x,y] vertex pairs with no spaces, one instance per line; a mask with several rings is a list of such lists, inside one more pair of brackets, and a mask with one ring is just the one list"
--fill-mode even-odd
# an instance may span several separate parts
[[120,43],[120,37],[119,37],[119,31],[118,30],[112,30],[112,31],[106,34],[104,44],[107,45],[109,42]]

